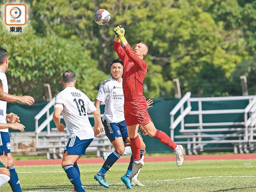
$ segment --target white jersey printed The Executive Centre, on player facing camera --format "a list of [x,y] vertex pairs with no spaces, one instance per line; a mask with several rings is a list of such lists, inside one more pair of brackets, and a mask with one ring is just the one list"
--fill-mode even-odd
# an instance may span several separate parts
[[111,76],[100,85],[96,99],[106,103],[103,121],[105,119],[108,123],[124,121],[124,92],[122,81],[123,79],[119,83]]

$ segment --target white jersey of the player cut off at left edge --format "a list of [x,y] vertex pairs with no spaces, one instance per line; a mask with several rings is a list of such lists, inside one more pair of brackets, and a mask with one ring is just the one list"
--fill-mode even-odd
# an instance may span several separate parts
[[[5,73],[0,69],[0,79],[3,83],[3,91],[8,93],[8,82]],[[0,123],[6,124],[6,101],[0,100]],[[0,132],[9,132],[9,129],[0,129]]]

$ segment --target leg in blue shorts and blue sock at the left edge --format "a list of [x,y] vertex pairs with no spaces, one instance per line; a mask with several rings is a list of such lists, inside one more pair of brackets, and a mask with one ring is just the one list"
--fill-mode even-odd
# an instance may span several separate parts
[[10,134],[0,132],[3,145],[1,146],[1,159],[3,164],[10,171],[10,180],[8,183],[13,192],[21,192],[21,185],[15,170],[13,155],[11,154]]

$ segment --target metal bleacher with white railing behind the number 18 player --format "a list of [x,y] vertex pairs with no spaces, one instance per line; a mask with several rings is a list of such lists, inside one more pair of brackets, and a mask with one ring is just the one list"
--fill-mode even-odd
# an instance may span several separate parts
[[[58,132],[57,128],[51,127],[53,122],[53,105],[55,98],[45,105],[45,107],[38,113],[35,119],[35,149],[37,153],[46,153],[47,158],[62,158],[63,150],[69,139],[67,129],[64,132]],[[104,103],[102,103],[104,105]],[[52,111],[52,112],[51,112]],[[40,120],[45,117],[45,120]],[[103,116],[103,114],[101,114]],[[88,115],[93,118],[93,115]],[[61,118],[63,118],[61,116]],[[41,122],[42,121],[42,122]],[[46,131],[45,131],[46,128]],[[105,132],[95,137],[92,143],[87,148],[87,153],[95,153],[99,157],[103,152],[111,151],[112,145],[106,136]]]

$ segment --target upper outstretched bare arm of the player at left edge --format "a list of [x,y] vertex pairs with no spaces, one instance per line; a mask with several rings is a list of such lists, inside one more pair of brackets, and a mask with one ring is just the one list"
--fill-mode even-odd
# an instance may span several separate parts
[[34,98],[29,95],[17,96],[17,95],[8,94],[6,92],[3,93],[3,97],[1,98],[1,100],[7,101],[7,102],[24,103],[27,105],[32,105],[34,103]]

